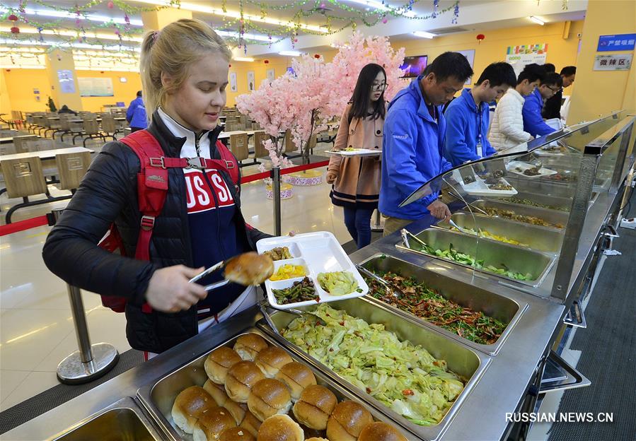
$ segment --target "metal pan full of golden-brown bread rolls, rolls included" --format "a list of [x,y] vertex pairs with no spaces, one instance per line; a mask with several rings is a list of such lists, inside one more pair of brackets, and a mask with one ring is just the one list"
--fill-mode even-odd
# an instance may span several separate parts
[[255,328],[141,387],[137,397],[171,440],[412,439]]

